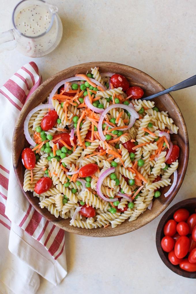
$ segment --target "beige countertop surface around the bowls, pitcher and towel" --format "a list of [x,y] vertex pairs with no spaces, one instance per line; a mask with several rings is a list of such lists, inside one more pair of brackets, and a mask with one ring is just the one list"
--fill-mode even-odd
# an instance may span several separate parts
[[[16,3],[1,1],[0,31],[8,29]],[[50,55],[34,59],[44,80],[68,66],[88,61],[136,67],[165,88],[196,74],[194,0],[55,3],[63,22],[63,40]],[[16,50],[1,53],[0,58],[0,85],[32,60]],[[172,94],[187,124],[190,160],[182,187],[170,206],[195,196],[195,89]],[[170,271],[157,253],[155,233],[160,218],[118,237],[87,238],[66,233],[68,275],[58,287],[41,278],[38,294],[194,293],[195,280]]]

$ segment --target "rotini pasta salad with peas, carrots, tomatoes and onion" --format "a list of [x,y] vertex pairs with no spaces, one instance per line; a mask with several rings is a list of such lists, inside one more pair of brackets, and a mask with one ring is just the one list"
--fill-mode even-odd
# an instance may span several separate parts
[[86,229],[135,220],[174,174],[167,197],[177,181],[179,147],[170,134],[178,127],[143,95],[98,67],[58,83],[24,122],[24,191]]

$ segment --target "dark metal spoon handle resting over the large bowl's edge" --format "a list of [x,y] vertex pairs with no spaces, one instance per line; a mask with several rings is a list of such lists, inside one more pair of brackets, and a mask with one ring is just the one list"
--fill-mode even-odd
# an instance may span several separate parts
[[172,87],[170,87],[170,88],[168,88],[168,89],[166,89],[164,91],[161,91],[161,92],[158,92],[156,94],[150,95],[148,97],[142,98],[141,100],[144,100],[144,99],[145,100],[151,100],[151,99],[153,99],[155,97],[170,93],[172,91],[177,91],[177,90],[188,88],[188,87],[195,86],[195,85],[196,85],[196,75],[192,76],[191,78],[187,78],[187,80],[182,81],[181,83],[178,83],[177,85],[172,86]]

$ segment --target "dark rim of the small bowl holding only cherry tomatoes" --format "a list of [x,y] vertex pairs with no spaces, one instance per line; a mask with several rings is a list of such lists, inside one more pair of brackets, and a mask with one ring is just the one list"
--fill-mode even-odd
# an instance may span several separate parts
[[187,204],[191,204],[191,203],[196,203],[196,197],[187,198],[187,199],[184,199],[180,202],[177,202],[164,213],[164,215],[162,216],[162,218],[159,221],[157,231],[156,231],[156,247],[157,247],[157,251],[158,251],[158,254],[159,254],[161,260],[163,261],[163,263],[165,263],[167,268],[172,270],[177,275],[181,275],[182,277],[196,279],[196,272],[186,272],[186,271],[182,270],[179,266],[176,266],[176,265],[173,265],[172,263],[170,263],[170,261],[165,257],[163,249],[161,248],[161,245],[160,245],[161,234],[163,233],[163,228],[164,228],[164,225],[167,222],[167,220],[170,219],[170,217],[173,215],[173,213],[177,209],[184,208]]

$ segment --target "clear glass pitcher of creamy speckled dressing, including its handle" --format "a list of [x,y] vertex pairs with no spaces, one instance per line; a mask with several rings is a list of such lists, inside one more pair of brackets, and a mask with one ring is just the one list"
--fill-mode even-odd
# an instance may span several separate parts
[[41,57],[61,42],[63,26],[58,8],[43,0],[23,0],[12,14],[12,27],[0,34],[0,49],[14,49],[24,55]]

